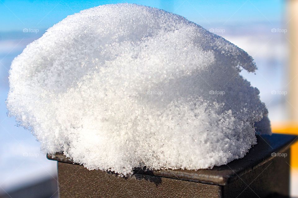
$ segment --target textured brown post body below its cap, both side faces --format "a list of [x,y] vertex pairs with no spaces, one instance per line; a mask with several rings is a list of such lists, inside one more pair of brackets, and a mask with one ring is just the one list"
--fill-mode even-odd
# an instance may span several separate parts
[[58,162],[59,197],[288,197],[289,156],[276,157],[225,186],[135,173],[121,178]]

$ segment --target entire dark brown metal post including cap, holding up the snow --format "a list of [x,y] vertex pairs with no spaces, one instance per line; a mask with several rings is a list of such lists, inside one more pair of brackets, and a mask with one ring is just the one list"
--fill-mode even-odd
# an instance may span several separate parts
[[[135,169],[122,178],[88,170],[64,155],[58,161],[59,196],[67,197],[288,197],[290,145],[298,138],[258,136],[258,144],[243,158],[213,169],[148,171]],[[272,156],[272,153],[283,156]]]

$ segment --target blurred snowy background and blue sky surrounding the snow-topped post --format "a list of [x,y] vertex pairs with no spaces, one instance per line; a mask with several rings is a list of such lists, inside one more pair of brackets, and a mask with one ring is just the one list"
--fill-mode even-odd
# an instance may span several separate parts
[[[186,17],[255,59],[255,74],[242,72],[260,90],[275,133],[298,135],[298,1],[0,0],[0,197],[57,197],[56,162],[47,160],[29,131],[7,117],[11,61],[68,15],[108,3],[136,3]],[[298,197],[298,144],[292,147],[291,195]]]

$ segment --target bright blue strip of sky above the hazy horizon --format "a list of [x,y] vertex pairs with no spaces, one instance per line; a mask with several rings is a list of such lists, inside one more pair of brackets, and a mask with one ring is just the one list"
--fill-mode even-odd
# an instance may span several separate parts
[[200,25],[249,22],[275,23],[283,19],[285,11],[285,3],[282,0],[0,0],[0,32],[18,31],[24,28],[47,29],[66,16],[81,10],[108,3],[122,2],[161,8],[185,16]]

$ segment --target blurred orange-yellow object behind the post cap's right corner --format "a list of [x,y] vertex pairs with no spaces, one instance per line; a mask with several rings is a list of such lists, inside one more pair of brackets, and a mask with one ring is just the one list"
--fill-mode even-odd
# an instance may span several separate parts
[[[273,123],[271,127],[273,133],[298,135],[298,123]],[[291,167],[298,168],[298,142],[291,146]]]

